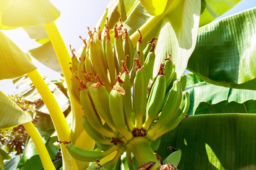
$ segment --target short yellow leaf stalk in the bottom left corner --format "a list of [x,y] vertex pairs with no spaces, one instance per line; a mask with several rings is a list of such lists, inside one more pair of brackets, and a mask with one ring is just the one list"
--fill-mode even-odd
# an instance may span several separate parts
[[[38,131],[35,128],[35,126],[32,124],[31,121],[29,121],[25,124],[22,124],[22,125],[25,127],[25,129],[29,133],[29,136],[31,137],[31,139],[33,140],[33,142],[36,146],[39,157],[40,157],[40,159],[42,161],[42,164],[43,164],[43,168],[45,170],[55,170],[55,167],[52,163],[52,159],[50,158],[49,153],[47,152],[47,149],[45,147],[45,144],[43,143],[43,140],[40,137]],[[1,169],[2,169],[2,165],[1,165]]]

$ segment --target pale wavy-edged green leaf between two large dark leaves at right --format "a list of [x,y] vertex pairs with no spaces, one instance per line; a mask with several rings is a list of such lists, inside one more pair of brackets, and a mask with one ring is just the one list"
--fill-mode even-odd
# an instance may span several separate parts
[[[256,91],[215,86],[207,82],[200,82],[191,86],[187,86],[186,90],[190,95],[190,106],[188,111],[189,115],[194,115],[196,110],[201,110],[200,114],[202,114],[202,110],[207,109],[206,106],[213,107],[208,108],[209,110],[206,111],[206,114],[236,112],[235,108],[229,108],[229,106],[241,107],[238,109],[238,113],[256,113],[256,110],[254,111],[256,106]],[[249,108],[245,107],[248,105],[245,105],[245,102],[247,101],[250,101],[249,103],[252,104],[249,106]],[[209,105],[200,105],[202,102],[205,102]],[[220,102],[222,102],[222,104],[216,105],[216,107],[214,106]],[[232,104],[229,104],[230,102],[232,102]],[[216,112],[214,111],[214,108],[216,108]],[[246,109],[249,109],[250,111],[248,112]]]

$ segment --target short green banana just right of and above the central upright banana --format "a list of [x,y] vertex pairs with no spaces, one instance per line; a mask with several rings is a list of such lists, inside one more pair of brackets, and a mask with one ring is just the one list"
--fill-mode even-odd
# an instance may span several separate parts
[[147,84],[148,84],[149,80],[152,79],[152,76],[153,76],[153,68],[154,68],[154,63],[155,63],[154,49],[155,49],[155,43],[152,43],[152,47],[148,53],[148,56],[146,57],[144,65],[143,65],[145,73],[146,73],[146,77],[147,77]]

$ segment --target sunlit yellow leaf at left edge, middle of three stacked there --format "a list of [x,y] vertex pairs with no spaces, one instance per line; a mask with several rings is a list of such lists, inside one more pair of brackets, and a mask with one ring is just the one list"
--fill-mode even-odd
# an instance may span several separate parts
[[20,77],[36,69],[27,53],[0,31],[0,79]]

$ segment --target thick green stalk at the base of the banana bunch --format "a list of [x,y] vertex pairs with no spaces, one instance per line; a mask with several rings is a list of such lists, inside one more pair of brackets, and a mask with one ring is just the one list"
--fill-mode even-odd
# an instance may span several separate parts
[[132,151],[138,167],[150,161],[155,161],[155,164],[150,167],[150,170],[154,170],[161,165],[151,148],[151,141],[146,137],[134,137],[128,144],[126,144],[126,147]]

